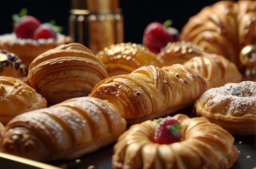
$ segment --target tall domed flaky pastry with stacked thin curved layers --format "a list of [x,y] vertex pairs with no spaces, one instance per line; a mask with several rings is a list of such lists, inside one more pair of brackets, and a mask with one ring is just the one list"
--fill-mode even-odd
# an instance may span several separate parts
[[31,62],[28,79],[32,88],[56,104],[88,96],[94,85],[108,77],[103,63],[79,43],[47,50]]

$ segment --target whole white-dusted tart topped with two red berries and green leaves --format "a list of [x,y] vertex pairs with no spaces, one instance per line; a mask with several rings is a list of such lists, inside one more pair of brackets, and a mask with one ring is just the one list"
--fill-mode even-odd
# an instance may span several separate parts
[[26,9],[14,14],[13,21],[13,32],[0,35],[0,49],[16,54],[26,66],[46,50],[73,42],[70,36],[61,34],[60,27],[53,22],[41,23],[27,15]]

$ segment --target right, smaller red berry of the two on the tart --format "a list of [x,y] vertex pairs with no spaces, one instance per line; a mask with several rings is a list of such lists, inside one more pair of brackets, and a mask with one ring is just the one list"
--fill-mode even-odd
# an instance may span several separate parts
[[56,39],[56,32],[54,30],[46,25],[46,24],[41,24],[38,29],[34,32],[33,39],[38,40],[40,38],[43,39],[49,39],[49,38],[54,38]]

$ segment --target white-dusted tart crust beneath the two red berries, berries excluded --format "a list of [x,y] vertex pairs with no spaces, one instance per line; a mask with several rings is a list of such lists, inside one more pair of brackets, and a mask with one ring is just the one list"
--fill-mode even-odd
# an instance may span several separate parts
[[22,63],[28,67],[35,57],[46,50],[72,42],[73,39],[70,36],[62,35],[61,33],[56,34],[56,40],[54,38],[21,39],[17,38],[15,33],[7,33],[0,36],[0,49],[15,53],[20,57]]

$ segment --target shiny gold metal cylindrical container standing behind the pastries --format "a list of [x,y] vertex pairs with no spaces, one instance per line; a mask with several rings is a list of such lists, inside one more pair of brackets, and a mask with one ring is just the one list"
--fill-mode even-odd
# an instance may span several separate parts
[[69,34],[94,54],[124,41],[119,0],[71,0]]

